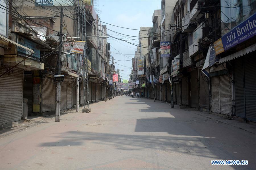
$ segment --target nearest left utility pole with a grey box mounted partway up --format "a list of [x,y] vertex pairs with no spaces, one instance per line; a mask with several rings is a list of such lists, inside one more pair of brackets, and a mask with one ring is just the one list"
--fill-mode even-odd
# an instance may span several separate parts
[[[63,22],[63,8],[61,7],[61,18],[60,18],[60,28],[59,28],[59,52],[57,61],[57,75],[61,75],[61,56],[62,56],[62,22]],[[56,76],[57,78],[57,76]],[[57,82],[57,92],[56,92],[56,110],[55,110],[55,122],[59,122],[60,116],[60,95],[61,95],[61,81]]]

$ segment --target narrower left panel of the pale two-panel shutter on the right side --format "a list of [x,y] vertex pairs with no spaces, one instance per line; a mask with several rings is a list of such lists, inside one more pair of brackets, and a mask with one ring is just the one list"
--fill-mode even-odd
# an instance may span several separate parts
[[219,77],[211,77],[212,112],[220,113],[220,81]]

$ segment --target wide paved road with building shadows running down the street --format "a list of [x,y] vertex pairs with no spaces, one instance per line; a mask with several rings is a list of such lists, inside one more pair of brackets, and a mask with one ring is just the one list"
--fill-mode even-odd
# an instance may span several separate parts
[[255,134],[168,104],[117,96],[3,130],[0,169],[256,169]]

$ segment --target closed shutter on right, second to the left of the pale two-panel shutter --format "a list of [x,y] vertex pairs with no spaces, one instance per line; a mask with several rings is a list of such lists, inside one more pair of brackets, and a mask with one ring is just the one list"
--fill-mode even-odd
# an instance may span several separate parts
[[198,70],[191,71],[191,107],[199,107],[198,95]]

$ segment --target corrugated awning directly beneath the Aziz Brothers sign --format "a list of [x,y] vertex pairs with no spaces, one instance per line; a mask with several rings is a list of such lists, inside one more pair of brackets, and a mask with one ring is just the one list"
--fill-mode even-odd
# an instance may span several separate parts
[[245,48],[245,49],[243,49],[243,50],[240,50],[240,51],[238,51],[238,52],[235,52],[235,53],[233,53],[233,54],[230,54],[229,56],[226,56],[226,57],[224,57],[224,58],[221,58],[221,59],[219,60],[219,63],[224,63],[224,62],[226,62],[226,61],[233,60],[233,59],[235,59],[235,58],[241,57],[241,56],[243,56],[243,55],[245,55],[245,54],[248,54],[248,53],[250,53],[250,52],[252,52],[252,51],[255,51],[255,50],[256,50],[256,43],[253,44],[253,45],[251,45],[251,46],[249,46],[249,47],[247,47],[247,48]]

